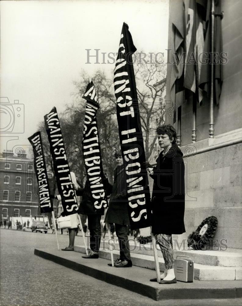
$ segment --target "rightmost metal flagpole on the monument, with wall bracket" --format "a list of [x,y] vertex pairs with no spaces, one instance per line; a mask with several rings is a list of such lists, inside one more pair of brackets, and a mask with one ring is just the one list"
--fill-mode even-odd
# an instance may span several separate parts
[[213,97],[214,97],[214,0],[211,1],[211,90],[210,90],[210,123],[209,123],[209,138],[214,138],[214,118],[213,118]]

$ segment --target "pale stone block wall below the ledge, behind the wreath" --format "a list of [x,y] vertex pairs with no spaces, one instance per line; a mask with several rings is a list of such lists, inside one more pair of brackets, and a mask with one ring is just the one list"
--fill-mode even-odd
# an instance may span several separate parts
[[187,238],[203,219],[218,218],[215,239],[227,239],[229,248],[242,248],[242,144],[184,159],[186,164]]

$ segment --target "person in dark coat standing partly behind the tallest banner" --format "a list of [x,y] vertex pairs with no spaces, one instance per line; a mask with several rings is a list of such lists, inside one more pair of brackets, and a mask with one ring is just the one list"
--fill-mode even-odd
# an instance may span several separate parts
[[[114,223],[118,237],[120,258],[114,262],[114,267],[132,267],[128,242],[128,196],[126,192],[125,166],[121,152],[114,154],[117,168],[114,170],[114,185],[110,196],[105,223]],[[111,266],[111,264],[108,264]]]

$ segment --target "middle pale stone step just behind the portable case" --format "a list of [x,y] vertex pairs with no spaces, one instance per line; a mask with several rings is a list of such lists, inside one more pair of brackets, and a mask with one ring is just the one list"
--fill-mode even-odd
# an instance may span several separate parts
[[[85,253],[84,246],[74,246],[75,252]],[[114,260],[119,258],[119,251],[114,250]],[[111,260],[110,252],[107,249],[99,250],[99,257]],[[154,270],[154,256],[131,253],[131,260],[134,266]],[[159,257],[160,270],[164,271],[164,259]],[[155,275],[154,275],[155,276]],[[197,280],[240,280],[242,279],[242,267],[218,267],[194,263],[194,279]]]

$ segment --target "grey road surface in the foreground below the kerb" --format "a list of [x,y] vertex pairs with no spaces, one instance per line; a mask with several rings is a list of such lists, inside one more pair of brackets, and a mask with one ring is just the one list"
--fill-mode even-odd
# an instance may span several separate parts
[[[67,235],[58,235],[60,247]],[[81,236],[76,244],[83,244]],[[154,301],[34,255],[35,248],[57,249],[54,234],[0,230],[1,305],[241,305],[242,299]],[[64,253],[60,251],[60,253]],[[67,252],[66,252],[67,253]],[[69,252],[69,256],[74,252]],[[209,290],[209,289],[208,289]]]

